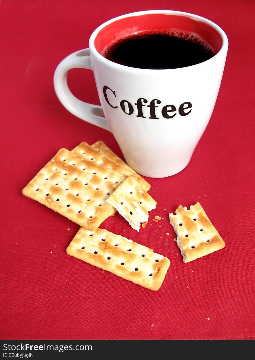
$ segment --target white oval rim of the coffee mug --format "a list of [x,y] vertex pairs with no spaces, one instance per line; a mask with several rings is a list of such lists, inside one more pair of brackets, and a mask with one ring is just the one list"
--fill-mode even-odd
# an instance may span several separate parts
[[[103,55],[101,55],[99,53],[99,51],[96,49],[95,47],[95,39],[97,37],[97,35],[99,34],[99,32],[106,27],[107,25],[116,22],[120,19],[124,19],[124,18],[128,18],[128,17],[135,17],[135,16],[139,16],[139,15],[147,15],[147,14],[166,14],[166,15],[178,15],[178,16],[183,16],[183,17],[189,17],[191,19],[197,20],[197,21],[201,21],[206,23],[207,25],[209,25],[211,28],[213,28],[214,30],[216,30],[218,32],[218,34],[220,35],[221,39],[222,39],[222,46],[219,49],[219,51],[210,59],[205,60],[202,63],[198,63],[198,64],[194,64],[191,66],[187,66],[187,67],[180,67],[180,68],[174,68],[174,69],[143,69],[143,68],[135,68],[135,67],[129,67],[126,65],[122,65],[122,64],[118,64],[115,62],[112,62],[111,60],[106,59]],[[214,59],[217,59],[224,51],[227,53],[228,50],[228,38],[227,35],[225,34],[225,32],[222,30],[222,28],[217,25],[216,23],[214,23],[213,21],[206,19],[204,17],[201,17],[200,15],[195,15],[195,14],[191,14],[191,13],[187,13],[187,12],[182,12],[182,11],[178,11],[178,10],[143,10],[143,11],[138,11],[138,12],[133,12],[133,13],[128,13],[128,14],[123,14],[120,16],[117,16],[115,18],[112,18],[106,22],[104,22],[103,24],[99,25],[91,34],[90,39],[89,39],[89,50],[90,50],[90,54],[92,54],[99,62],[104,63],[107,66],[110,67],[114,67],[116,69],[122,69],[123,70],[129,70],[129,71],[133,71],[133,72],[155,72],[155,71],[181,71],[183,69],[189,69],[192,68],[194,66],[200,66],[201,64],[205,64],[205,63],[209,63],[214,61]]]

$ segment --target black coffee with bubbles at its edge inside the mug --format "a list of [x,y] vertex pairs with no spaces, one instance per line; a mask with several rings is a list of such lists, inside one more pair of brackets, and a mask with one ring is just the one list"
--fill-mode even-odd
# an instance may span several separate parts
[[103,53],[112,62],[140,69],[175,69],[200,64],[214,56],[198,36],[183,33],[143,33],[113,42]]

